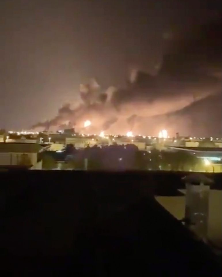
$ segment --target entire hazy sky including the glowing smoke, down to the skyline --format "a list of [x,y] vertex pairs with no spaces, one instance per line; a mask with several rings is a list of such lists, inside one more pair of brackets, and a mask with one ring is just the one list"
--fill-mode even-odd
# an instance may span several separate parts
[[220,0],[1,0],[0,37],[0,128],[221,134]]

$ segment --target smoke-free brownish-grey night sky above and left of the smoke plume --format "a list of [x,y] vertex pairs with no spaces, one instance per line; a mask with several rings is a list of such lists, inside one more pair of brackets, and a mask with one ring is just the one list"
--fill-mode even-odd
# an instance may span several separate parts
[[124,87],[132,67],[156,74],[178,33],[220,17],[219,0],[1,0],[0,128],[54,117],[90,77]]

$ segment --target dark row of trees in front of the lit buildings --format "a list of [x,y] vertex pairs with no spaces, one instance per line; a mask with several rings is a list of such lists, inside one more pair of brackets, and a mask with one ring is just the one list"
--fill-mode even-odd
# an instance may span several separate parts
[[67,145],[63,152],[41,153],[43,169],[87,169],[88,170],[172,170],[198,171],[202,160],[185,151],[169,152],[153,149],[140,151],[132,144],[86,147],[76,149]]

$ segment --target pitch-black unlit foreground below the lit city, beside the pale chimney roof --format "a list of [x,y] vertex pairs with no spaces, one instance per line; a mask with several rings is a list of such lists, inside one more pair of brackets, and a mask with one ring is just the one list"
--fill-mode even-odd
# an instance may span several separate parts
[[4,274],[221,274],[208,247],[153,197],[175,195],[179,175],[14,171],[0,177]]

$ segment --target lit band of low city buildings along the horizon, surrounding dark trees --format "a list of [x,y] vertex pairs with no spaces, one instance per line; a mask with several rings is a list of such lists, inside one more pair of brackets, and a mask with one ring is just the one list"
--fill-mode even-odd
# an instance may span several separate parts
[[[150,155],[154,149],[160,153],[187,153],[202,161],[202,166],[189,170],[202,172],[222,172],[222,141],[221,138],[197,138],[180,136],[179,133],[170,137],[167,130],[161,130],[158,136],[134,135],[132,131],[128,131],[126,135],[106,134],[101,131],[100,134],[83,134],[75,132],[74,128],[58,130],[57,132],[32,132],[32,131],[9,131],[2,132],[0,137],[0,166],[28,166],[29,169],[41,169],[42,155],[38,153],[50,153],[53,158],[63,153],[70,145],[77,151],[86,148],[109,146],[134,145],[135,149]],[[55,155],[53,154],[55,153]],[[146,154],[147,153],[147,154]],[[27,156],[26,162],[24,157]],[[120,157],[121,158],[121,157]],[[145,158],[145,157],[144,157]],[[65,161],[65,156],[56,158],[60,163]],[[28,162],[29,160],[29,162]],[[150,165],[145,167],[151,170]],[[158,170],[173,170],[172,166],[162,168],[160,165]]]

